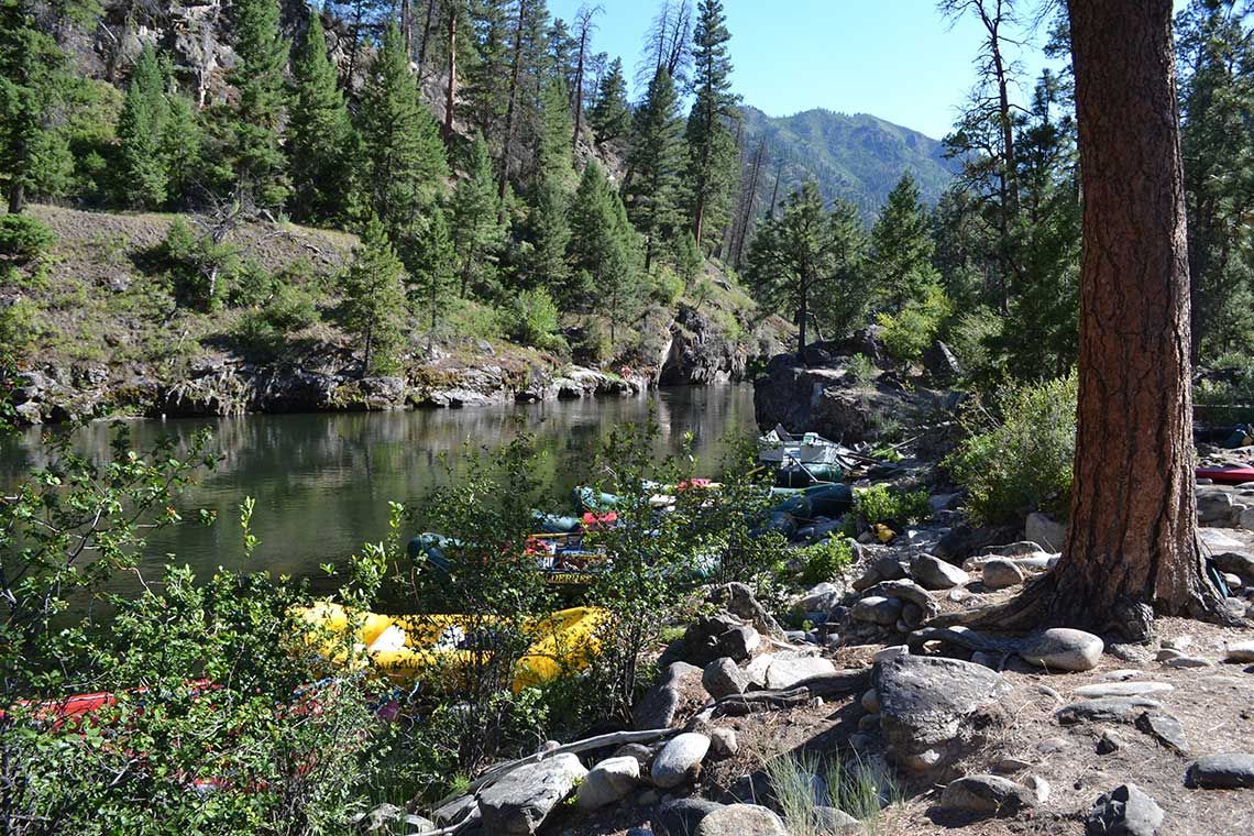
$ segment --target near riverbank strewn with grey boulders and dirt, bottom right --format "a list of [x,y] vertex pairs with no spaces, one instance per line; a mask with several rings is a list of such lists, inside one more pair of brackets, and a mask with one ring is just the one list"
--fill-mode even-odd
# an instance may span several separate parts
[[[1204,540],[1233,570],[1229,604],[1254,617],[1254,530],[1241,523],[1254,490],[1200,495]],[[859,545],[854,565],[779,612],[741,584],[707,588],[711,614],[662,652],[632,729],[545,743],[393,832],[1243,832],[1254,630],[1161,619],[1154,643],[1129,645],[1075,629],[929,628],[1004,600],[1058,558],[1022,529],[972,551],[937,500],[932,520]],[[1058,536],[1045,519],[1030,530]],[[849,786],[869,788],[870,806]],[[375,815],[382,828],[405,811]]]

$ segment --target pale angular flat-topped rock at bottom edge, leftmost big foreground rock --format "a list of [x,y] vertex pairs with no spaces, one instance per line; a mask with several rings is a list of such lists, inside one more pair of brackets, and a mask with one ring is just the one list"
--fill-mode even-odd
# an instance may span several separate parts
[[520,766],[479,793],[483,828],[489,833],[534,833],[588,771],[574,755]]

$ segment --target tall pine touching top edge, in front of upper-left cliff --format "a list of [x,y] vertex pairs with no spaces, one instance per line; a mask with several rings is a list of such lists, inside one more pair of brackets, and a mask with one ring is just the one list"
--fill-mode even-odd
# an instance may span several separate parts
[[280,147],[290,48],[278,31],[278,0],[236,3],[234,30],[240,60],[227,79],[240,95],[231,149],[236,184],[258,207],[280,207],[290,191]]

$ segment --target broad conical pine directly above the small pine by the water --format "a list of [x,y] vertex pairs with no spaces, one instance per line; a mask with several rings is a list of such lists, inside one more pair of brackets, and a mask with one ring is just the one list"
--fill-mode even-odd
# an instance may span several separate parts
[[405,43],[389,24],[361,103],[371,209],[400,248],[449,175],[439,129],[409,71]]

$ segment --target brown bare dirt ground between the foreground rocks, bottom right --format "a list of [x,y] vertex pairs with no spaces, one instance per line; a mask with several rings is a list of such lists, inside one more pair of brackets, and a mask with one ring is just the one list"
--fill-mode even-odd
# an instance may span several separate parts
[[[1201,656],[1216,664],[1209,668],[1166,668],[1152,659],[1157,645],[1146,648],[1144,662],[1125,662],[1106,654],[1101,664],[1083,673],[1047,674],[1021,663],[1003,671],[1012,693],[1003,701],[1007,723],[989,743],[971,752],[958,766],[958,773],[992,773],[1023,781],[1027,776],[1045,778],[1051,793],[1045,803],[1012,818],[976,818],[947,813],[937,807],[943,785],[900,783],[902,801],[885,810],[884,817],[869,832],[877,836],[993,836],[997,833],[1041,833],[1082,836],[1083,816],[1102,792],[1121,783],[1136,783],[1162,808],[1165,821],[1160,836],[1216,836],[1251,833],[1254,791],[1189,790],[1184,773],[1189,762],[1201,755],[1254,752],[1254,666],[1223,664],[1226,643],[1254,639],[1254,630],[1223,629],[1184,619],[1157,623],[1159,639],[1191,637],[1190,656]],[[845,648],[833,654],[838,667],[870,663],[875,647]],[[1114,671],[1135,671],[1135,678],[1162,682],[1174,691],[1154,694],[1162,711],[1184,727],[1189,755],[1179,755],[1142,734],[1134,726],[1119,723],[1080,723],[1063,727],[1055,711],[1081,699],[1076,688],[1102,682]],[[785,752],[834,752],[849,757],[849,736],[858,729],[864,712],[856,697],[819,707],[780,711],[750,717],[722,718],[716,724],[734,728],[739,752],[722,761],[707,761],[705,772],[688,795],[732,801],[754,801],[762,781],[751,776],[761,763]],[[1122,747],[1110,755],[1097,755],[1096,745],[1111,731]],[[1057,738],[1053,751],[1042,752],[1042,741]],[[878,732],[863,757],[882,757]],[[1026,767],[1001,763],[1008,758]],[[643,801],[643,803],[641,803]],[[641,795],[596,816],[578,817],[573,811],[554,817],[547,833],[569,836],[623,836],[631,827],[650,823],[652,798]]]

